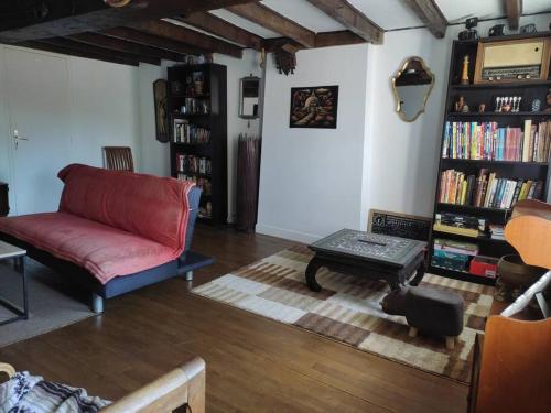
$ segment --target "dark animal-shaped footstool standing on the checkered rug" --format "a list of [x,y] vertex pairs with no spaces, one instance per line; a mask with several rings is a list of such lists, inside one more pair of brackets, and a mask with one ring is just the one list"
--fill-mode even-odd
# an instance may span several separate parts
[[382,298],[387,314],[406,316],[409,335],[426,332],[446,338],[446,347],[455,347],[456,337],[463,332],[463,297],[447,291],[424,286],[406,286],[388,293]]

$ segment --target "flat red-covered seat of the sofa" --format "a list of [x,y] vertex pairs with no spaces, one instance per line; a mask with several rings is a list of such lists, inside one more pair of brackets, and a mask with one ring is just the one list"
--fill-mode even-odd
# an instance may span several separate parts
[[179,256],[151,239],[66,213],[0,218],[0,231],[85,268],[102,284]]

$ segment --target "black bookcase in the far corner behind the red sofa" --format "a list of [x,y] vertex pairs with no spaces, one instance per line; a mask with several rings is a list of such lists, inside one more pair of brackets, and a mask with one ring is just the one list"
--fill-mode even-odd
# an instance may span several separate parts
[[171,174],[203,188],[198,220],[227,222],[226,66],[169,67]]

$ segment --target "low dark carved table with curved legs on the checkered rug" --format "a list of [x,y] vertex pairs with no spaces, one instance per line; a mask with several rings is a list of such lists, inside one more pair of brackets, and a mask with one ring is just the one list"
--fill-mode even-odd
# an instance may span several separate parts
[[315,275],[322,267],[328,270],[385,280],[390,289],[417,285],[425,272],[426,242],[377,233],[342,229],[309,246],[315,252],[306,268],[306,283],[321,291]]

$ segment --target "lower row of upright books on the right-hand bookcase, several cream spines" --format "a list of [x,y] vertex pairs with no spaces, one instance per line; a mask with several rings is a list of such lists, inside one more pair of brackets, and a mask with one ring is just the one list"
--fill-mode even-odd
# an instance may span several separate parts
[[484,208],[509,209],[518,200],[539,199],[543,181],[500,178],[482,169],[478,176],[455,170],[441,173],[439,202]]

